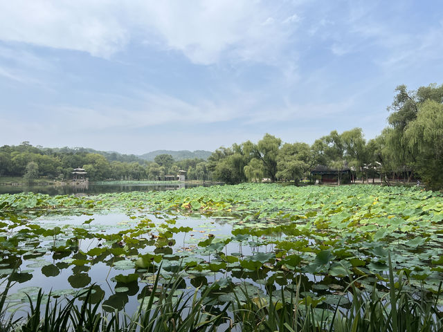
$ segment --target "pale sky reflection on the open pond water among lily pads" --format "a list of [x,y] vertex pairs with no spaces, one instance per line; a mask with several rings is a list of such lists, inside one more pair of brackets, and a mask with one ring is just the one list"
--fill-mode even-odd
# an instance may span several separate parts
[[[91,218],[89,218],[91,217]],[[143,282],[122,282],[131,274],[136,273],[136,280],[145,280],[150,284],[153,280],[148,277],[155,277],[154,273],[158,266],[136,270],[134,267],[134,257],[139,253],[145,254],[152,252],[156,255],[161,254],[165,257],[163,261],[163,269],[167,273],[173,273],[182,270],[183,262],[181,259],[187,256],[195,257],[196,261],[204,261],[209,258],[203,249],[198,248],[197,243],[207,239],[208,233],[215,234],[217,237],[224,237],[230,234],[232,223],[226,223],[222,219],[210,219],[201,217],[200,219],[177,218],[174,219],[174,227],[191,226],[189,232],[179,232],[174,234],[173,238],[168,239],[165,246],[159,245],[159,237],[151,239],[151,232],[159,235],[159,230],[163,229],[167,221],[166,216],[155,216],[152,214],[140,214],[137,219],[131,219],[123,213],[114,214],[93,214],[92,216],[42,216],[35,219],[35,223],[42,225],[44,228],[59,227],[68,232],[69,229],[78,230],[79,228],[87,229],[91,234],[105,237],[106,234],[124,233],[129,228],[136,228],[140,220],[153,221],[156,227],[152,228],[147,234],[140,234],[136,239],[136,243],[129,243],[130,239],[126,239],[128,243],[124,243],[125,255],[119,255],[116,251],[110,253],[105,250],[102,254],[93,254],[89,252],[92,248],[123,248],[120,243],[109,243],[109,241],[101,238],[84,238],[75,239],[73,234],[59,235],[57,238],[51,237],[28,239],[26,243],[21,244],[21,249],[27,252],[25,255],[6,255],[6,252],[0,252],[0,284],[11,275],[12,284],[8,301],[18,300],[21,303],[26,302],[28,293],[31,297],[35,297],[39,287],[43,288],[44,293],[49,291],[53,295],[73,294],[82,288],[87,288],[94,284],[92,303],[98,303],[103,300],[102,308],[114,311],[126,308],[128,312],[135,312],[139,302],[134,295],[143,294],[141,288],[145,285]],[[91,223],[85,225],[85,219],[90,219]],[[171,221],[170,221],[171,222]],[[144,241],[145,239],[145,241]],[[147,241],[147,239],[151,239]],[[69,248],[68,243],[71,244]],[[135,247],[134,247],[135,246]],[[226,247],[228,252],[236,250],[237,244],[230,243]],[[122,249],[123,250],[123,249]],[[189,252],[187,250],[195,251]],[[87,254],[89,252],[89,254]],[[245,248],[246,253],[251,253]],[[173,255],[175,253],[175,255]],[[52,254],[52,255],[51,255]],[[123,257],[125,256],[125,257]],[[132,261],[127,257],[132,257]],[[196,271],[198,273],[198,271]],[[129,274],[129,275],[128,275]],[[120,279],[118,277],[120,276]],[[226,277],[226,273],[213,273],[213,280]],[[217,276],[217,277],[216,277]],[[210,275],[197,276],[197,279],[183,279],[181,288],[187,288],[191,284],[208,284]],[[235,278],[234,278],[235,279]]]

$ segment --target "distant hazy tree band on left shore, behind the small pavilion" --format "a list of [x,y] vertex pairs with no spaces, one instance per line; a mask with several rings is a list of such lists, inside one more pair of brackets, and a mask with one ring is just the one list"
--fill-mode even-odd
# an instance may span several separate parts
[[29,142],[0,147],[0,176],[24,176],[30,180],[45,176],[64,181],[71,179],[73,169],[78,167],[85,169],[91,181],[158,181],[169,174],[177,175],[180,169],[186,170],[190,179],[210,179],[206,161],[199,158],[176,161],[169,154],[161,154],[152,162],[133,155],[100,154],[83,148],[33,147]]

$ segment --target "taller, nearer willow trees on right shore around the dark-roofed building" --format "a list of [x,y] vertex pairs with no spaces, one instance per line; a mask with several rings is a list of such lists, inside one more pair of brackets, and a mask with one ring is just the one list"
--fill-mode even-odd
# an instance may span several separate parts
[[220,147],[208,158],[213,178],[226,183],[295,181],[314,178],[311,171],[324,165],[337,171],[349,167],[363,179],[379,176],[386,183],[420,178],[431,189],[443,187],[443,85],[431,84],[408,91],[397,86],[388,107],[388,126],[372,140],[360,128],[331,131],[313,145],[282,143],[266,133],[254,144],[246,141]]

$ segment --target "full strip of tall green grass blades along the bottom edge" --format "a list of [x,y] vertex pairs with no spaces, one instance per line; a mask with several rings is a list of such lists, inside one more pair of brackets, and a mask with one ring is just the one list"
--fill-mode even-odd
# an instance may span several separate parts
[[[92,289],[69,300],[58,301],[49,294],[46,304],[39,292],[35,303],[28,297],[26,317],[7,315],[6,295],[10,283],[0,295],[0,332],[138,332],[138,331],[289,331],[289,332],[437,332],[443,331],[442,311],[436,299],[407,289],[400,273],[395,281],[392,267],[389,271],[389,292],[359,290],[352,282],[349,306],[316,307],[316,303],[300,299],[296,288],[287,296],[280,289],[281,299],[273,292],[266,297],[251,297],[247,288],[235,295],[231,302],[213,304],[219,292],[217,284],[179,292],[179,277],[159,284],[156,276],[152,291],[143,295],[138,311],[132,315],[115,311],[104,313],[100,303],[91,304]],[[179,293],[179,295],[177,295]],[[440,291],[439,291],[440,293]],[[285,296],[286,295],[286,296]],[[82,300],[80,301],[80,297]],[[80,302],[80,304],[79,304]]]

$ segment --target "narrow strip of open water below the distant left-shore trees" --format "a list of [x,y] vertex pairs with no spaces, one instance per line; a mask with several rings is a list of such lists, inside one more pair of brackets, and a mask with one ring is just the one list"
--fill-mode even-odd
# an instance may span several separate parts
[[0,185],[0,194],[19,194],[20,192],[39,192],[49,195],[68,194],[105,194],[109,192],[150,192],[177,190],[180,188],[199,187],[194,183],[140,183],[140,184],[115,184],[115,183],[86,183],[84,185]]

